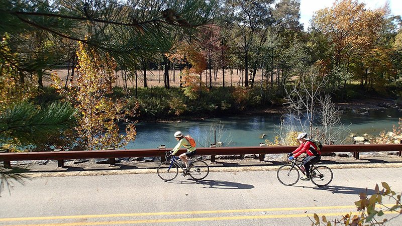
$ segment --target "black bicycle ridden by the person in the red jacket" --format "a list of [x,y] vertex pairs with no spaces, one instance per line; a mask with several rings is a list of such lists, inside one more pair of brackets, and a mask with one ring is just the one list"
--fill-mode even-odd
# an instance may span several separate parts
[[[318,162],[320,162],[319,160]],[[290,161],[289,164],[283,165],[279,167],[278,171],[276,172],[276,177],[278,178],[279,182],[284,185],[293,185],[297,183],[300,179],[299,170],[306,175],[305,170],[300,167],[303,164],[303,161],[299,161],[296,158]],[[326,186],[331,183],[333,178],[332,170],[327,166],[315,166],[312,164],[310,166],[310,180],[313,184],[322,187]]]

